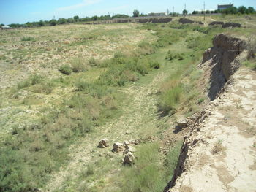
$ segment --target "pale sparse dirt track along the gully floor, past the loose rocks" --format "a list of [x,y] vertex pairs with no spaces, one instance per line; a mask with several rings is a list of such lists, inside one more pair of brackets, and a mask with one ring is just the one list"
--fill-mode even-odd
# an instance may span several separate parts
[[[129,88],[121,90],[127,93],[127,101],[125,101],[121,117],[97,128],[94,133],[75,142],[69,149],[72,158],[67,166],[54,173],[47,187],[42,191],[56,191],[61,188],[67,177],[76,177],[75,175],[83,165],[96,161],[95,157],[101,154],[109,153],[113,142],[139,139],[143,137],[143,130],[145,131],[146,128],[150,130],[149,127],[155,128],[157,126],[157,97],[152,93],[157,92],[158,83],[165,80],[167,75],[167,73],[159,71],[149,82],[136,82]],[[110,147],[97,149],[99,140],[103,138],[109,139]],[[121,156],[117,158],[121,159]]]

